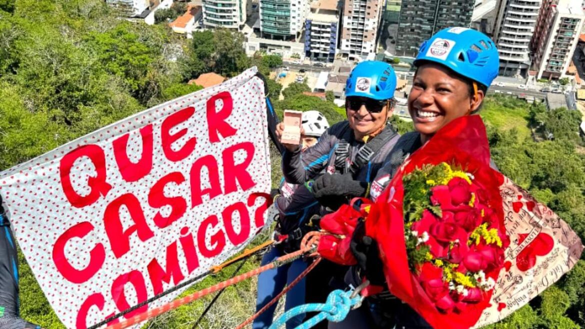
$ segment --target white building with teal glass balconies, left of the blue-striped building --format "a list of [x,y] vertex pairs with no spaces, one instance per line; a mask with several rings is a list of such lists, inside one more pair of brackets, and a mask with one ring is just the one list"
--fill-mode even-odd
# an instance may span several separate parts
[[308,13],[308,0],[260,0],[260,36],[296,41]]

